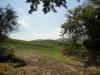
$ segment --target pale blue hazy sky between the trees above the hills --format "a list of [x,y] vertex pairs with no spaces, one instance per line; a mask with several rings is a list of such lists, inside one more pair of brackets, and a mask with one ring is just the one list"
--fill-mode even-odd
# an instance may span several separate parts
[[58,39],[61,38],[61,25],[66,21],[65,14],[68,9],[73,9],[76,6],[83,4],[85,0],[67,0],[68,9],[64,7],[56,8],[57,13],[49,12],[44,14],[42,12],[42,5],[33,14],[29,14],[30,6],[25,2],[26,0],[0,0],[0,7],[5,7],[8,4],[13,7],[18,17],[20,24],[19,30],[9,34],[12,39],[19,40],[37,40],[37,39]]

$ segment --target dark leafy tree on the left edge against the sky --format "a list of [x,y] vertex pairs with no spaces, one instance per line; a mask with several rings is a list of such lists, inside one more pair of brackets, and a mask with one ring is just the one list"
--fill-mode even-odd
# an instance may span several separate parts
[[7,35],[18,29],[16,12],[8,5],[0,7],[0,44],[7,38]]

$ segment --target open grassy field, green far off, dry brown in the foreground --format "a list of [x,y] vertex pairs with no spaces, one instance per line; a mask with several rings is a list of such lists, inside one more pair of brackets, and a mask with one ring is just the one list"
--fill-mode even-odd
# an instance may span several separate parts
[[26,66],[15,68],[11,63],[0,63],[0,75],[100,75],[96,68],[86,69],[74,57],[64,56],[64,46],[56,40],[8,39],[4,46],[12,48]]

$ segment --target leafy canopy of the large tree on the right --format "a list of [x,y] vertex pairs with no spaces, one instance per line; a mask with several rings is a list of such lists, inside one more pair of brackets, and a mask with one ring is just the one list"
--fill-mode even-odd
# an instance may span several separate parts
[[79,39],[100,39],[100,7],[78,6],[69,10],[68,20],[62,25],[63,35],[68,33]]

